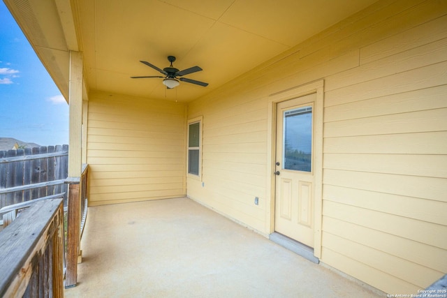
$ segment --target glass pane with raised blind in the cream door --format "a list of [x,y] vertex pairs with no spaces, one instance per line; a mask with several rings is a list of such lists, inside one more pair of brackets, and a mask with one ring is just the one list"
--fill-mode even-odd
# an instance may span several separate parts
[[312,170],[312,107],[284,112],[284,169]]

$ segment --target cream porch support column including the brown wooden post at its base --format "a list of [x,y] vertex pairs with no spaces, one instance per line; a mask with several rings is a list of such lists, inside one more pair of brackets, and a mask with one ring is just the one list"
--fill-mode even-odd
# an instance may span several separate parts
[[76,286],[80,251],[82,172],[82,53],[70,52],[70,137],[68,139],[68,230],[65,288]]

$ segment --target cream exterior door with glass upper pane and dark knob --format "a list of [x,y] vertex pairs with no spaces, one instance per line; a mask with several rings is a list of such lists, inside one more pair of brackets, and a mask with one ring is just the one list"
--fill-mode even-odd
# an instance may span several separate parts
[[277,104],[274,230],[314,247],[316,94]]

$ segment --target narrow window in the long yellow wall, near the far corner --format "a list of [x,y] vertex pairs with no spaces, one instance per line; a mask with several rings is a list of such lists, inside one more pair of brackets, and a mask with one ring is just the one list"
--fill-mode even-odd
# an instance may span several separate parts
[[192,119],[188,124],[188,174],[200,176],[201,119]]

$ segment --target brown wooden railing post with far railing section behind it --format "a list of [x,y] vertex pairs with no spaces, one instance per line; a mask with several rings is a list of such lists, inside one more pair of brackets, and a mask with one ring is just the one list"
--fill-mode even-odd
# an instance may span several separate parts
[[88,165],[82,166],[79,178],[68,178],[68,228],[65,288],[76,286],[78,280],[78,262],[82,261],[80,241],[87,218],[87,182]]

